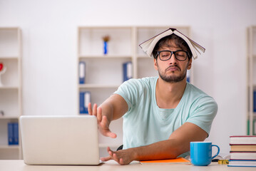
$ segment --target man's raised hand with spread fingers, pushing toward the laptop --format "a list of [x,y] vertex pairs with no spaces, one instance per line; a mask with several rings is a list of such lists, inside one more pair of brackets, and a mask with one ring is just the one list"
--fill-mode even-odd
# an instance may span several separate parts
[[88,103],[88,113],[89,115],[95,115],[98,120],[98,129],[100,130],[101,134],[110,137],[116,138],[116,134],[112,133],[109,129],[109,124],[111,123],[106,115],[102,115],[101,108],[97,108],[97,104],[93,105],[93,109],[91,108],[91,103]]

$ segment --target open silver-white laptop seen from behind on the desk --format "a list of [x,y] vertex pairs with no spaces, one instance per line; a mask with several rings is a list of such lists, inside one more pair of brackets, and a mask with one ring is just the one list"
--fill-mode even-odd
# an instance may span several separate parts
[[20,117],[26,165],[98,165],[98,125],[92,115]]

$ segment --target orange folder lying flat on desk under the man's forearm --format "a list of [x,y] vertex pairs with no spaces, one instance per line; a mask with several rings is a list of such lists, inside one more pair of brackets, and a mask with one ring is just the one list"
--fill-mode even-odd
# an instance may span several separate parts
[[147,160],[140,161],[141,165],[191,165],[190,160],[183,157],[168,160]]

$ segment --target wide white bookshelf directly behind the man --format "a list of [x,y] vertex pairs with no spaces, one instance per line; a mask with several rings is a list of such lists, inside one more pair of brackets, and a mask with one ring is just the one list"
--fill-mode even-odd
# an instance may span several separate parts
[[[148,38],[165,31],[169,26],[80,26],[78,27],[78,63],[86,63],[86,82],[78,84],[79,92],[91,91],[91,103],[100,105],[118,86],[123,83],[123,63],[133,63],[133,78],[158,76],[153,67],[153,58],[149,58],[138,46]],[[178,26],[179,31],[190,36],[189,26]],[[103,36],[110,36],[108,54],[103,55]],[[77,63],[77,66],[78,66]],[[77,67],[78,68],[78,67]],[[78,71],[78,69],[77,69]],[[78,72],[77,72],[78,73]],[[193,74],[190,76],[193,82]],[[77,76],[78,78],[78,76]],[[118,138],[99,137],[101,156],[108,155],[107,146],[113,150],[123,144],[123,120],[111,123],[111,130]]]

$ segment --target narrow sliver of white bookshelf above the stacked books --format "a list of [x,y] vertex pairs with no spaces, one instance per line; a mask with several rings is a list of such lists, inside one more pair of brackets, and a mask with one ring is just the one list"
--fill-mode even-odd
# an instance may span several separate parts
[[[253,93],[256,91],[256,26],[247,28],[247,134],[256,135],[256,103]],[[256,100],[256,98],[255,98]]]

